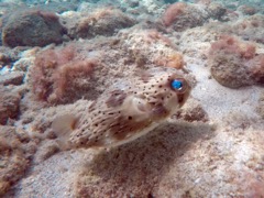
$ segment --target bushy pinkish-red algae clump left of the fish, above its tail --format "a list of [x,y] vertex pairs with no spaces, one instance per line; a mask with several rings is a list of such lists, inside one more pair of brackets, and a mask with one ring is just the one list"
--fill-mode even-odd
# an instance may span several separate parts
[[43,51],[30,70],[32,92],[50,103],[75,101],[91,88],[89,78],[96,65],[94,59],[80,59],[72,45]]

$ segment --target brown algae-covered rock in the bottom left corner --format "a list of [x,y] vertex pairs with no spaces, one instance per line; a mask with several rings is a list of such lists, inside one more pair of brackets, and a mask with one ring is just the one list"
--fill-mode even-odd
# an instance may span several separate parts
[[4,197],[11,186],[25,175],[36,144],[14,127],[0,125],[0,197]]

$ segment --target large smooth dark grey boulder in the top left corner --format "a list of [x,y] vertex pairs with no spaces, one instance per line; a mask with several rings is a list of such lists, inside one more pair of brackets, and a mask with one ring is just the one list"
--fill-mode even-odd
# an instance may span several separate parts
[[63,42],[65,29],[55,13],[41,10],[22,10],[3,19],[3,45],[45,46]]

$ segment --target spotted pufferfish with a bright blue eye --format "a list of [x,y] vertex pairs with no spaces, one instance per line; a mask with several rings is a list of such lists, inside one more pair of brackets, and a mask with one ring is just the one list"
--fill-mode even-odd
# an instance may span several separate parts
[[184,106],[191,87],[182,70],[148,69],[121,79],[76,114],[52,128],[63,147],[114,147],[148,133]]

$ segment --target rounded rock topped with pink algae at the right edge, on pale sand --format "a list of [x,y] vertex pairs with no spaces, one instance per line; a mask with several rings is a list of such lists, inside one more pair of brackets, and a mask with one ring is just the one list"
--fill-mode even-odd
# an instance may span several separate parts
[[209,66],[213,78],[230,88],[263,84],[263,56],[252,43],[222,36],[211,44]]

